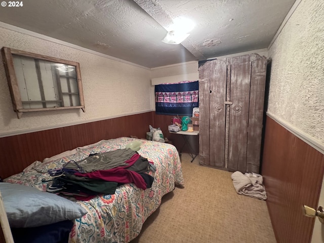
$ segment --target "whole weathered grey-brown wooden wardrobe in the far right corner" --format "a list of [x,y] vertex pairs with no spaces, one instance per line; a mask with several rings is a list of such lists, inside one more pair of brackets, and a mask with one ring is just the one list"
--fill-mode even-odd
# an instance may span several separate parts
[[199,164],[259,173],[267,59],[221,58],[199,67]]

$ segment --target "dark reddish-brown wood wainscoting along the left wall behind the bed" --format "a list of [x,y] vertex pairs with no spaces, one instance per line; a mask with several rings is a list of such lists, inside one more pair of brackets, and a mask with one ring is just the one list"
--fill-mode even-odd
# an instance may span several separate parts
[[152,112],[0,138],[0,177],[21,172],[35,160],[118,137],[146,138]]

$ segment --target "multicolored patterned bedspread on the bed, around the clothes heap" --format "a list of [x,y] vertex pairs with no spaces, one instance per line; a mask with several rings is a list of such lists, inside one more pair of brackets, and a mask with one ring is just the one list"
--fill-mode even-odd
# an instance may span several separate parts
[[114,194],[99,194],[90,200],[64,196],[87,211],[82,218],[73,220],[69,242],[129,242],[139,235],[144,221],[159,207],[161,198],[175,185],[184,185],[179,154],[171,144],[128,137],[102,140],[43,162],[35,161],[4,181],[46,191],[48,182],[42,179],[49,178],[48,170],[62,167],[70,160],[80,161],[90,154],[124,149],[133,141],[142,143],[138,154],[156,167],[155,172],[148,172],[154,178],[151,188],[143,190],[128,183],[118,186]]

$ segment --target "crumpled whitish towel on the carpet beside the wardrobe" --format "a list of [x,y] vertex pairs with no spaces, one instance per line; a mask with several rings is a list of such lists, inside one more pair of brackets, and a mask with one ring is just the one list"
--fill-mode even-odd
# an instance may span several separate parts
[[233,186],[238,194],[262,200],[267,199],[262,176],[253,176],[252,174],[244,175],[239,171],[235,171],[231,175],[231,178],[233,180]]

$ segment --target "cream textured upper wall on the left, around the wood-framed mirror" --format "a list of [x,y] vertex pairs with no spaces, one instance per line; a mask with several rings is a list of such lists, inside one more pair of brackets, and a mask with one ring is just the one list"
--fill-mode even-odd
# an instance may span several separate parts
[[0,48],[62,58],[80,64],[86,112],[80,109],[13,111],[3,62],[0,62],[0,136],[151,110],[150,70],[97,56],[0,27]]

